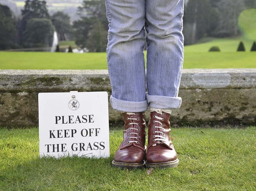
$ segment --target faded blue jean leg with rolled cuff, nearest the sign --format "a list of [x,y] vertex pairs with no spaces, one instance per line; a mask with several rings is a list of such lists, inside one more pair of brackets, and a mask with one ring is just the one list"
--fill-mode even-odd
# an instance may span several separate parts
[[145,0],[106,0],[106,9],[111,106],[125,112],[145,111]]

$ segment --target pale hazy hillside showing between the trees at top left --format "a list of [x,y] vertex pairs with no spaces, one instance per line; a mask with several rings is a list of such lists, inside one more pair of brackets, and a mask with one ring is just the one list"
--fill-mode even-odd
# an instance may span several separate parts
[[[48,11],[52,15],[56,11],[63,11],[69,14],[71,22],[78,20],[76,15],[77,7],[80,6],[83,0],[45,0],[48,5]],[[13,11],[15,16],[21,15],[21,9],[25,5],[25,0],[0,0],[0,4],[7,5]]]

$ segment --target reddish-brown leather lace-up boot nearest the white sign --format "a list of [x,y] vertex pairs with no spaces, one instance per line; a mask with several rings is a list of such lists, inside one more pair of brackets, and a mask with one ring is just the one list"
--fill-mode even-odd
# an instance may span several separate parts
[[123,113],[124,140],[115,153],[112,166],[134,169],[145,164],[146,122],[143,113]]

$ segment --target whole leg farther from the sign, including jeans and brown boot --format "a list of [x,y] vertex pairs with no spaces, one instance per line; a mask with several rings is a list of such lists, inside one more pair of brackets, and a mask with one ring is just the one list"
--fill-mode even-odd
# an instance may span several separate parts
[[147,167],[175,167],[179,160],[169,136],[170,114],[178,108],[183,64],[184,0],[146,0],[147,90],[150,106]]

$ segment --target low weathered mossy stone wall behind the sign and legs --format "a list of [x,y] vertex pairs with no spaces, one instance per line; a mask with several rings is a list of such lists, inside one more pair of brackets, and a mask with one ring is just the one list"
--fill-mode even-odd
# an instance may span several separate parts
[[[107,91],[107,70],[0,70],[0,126],[38,126],[38,93]],[[256,69],[184,69],[171,123],[256,125]],[[148,120],[148,111],[145,112]],[[122,121],[109,105],[109,121]]]

